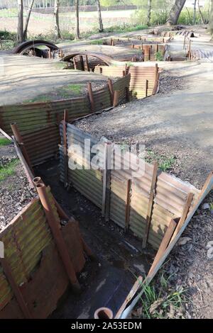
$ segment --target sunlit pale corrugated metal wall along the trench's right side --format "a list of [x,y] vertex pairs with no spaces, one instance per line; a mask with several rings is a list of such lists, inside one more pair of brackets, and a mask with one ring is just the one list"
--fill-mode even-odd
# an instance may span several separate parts
[[[62,131],[62,127],[61,127]],[[62,132],[61,132],[62,137]],[[67,124],[67,145],[75,144],[84,146],[84,139],[90,139],[91,145],[97,144],[98,140],[91,135],[84,133],[74,125]],[[63,142],[62,142],[63,144]],[[71,155],[70,155],[71,156]],[[101,159],[104,154],[101,154]],[[114,155],[112,155],[114,156]],[[77,159],[79,166],[83,162],[77,154],[72,154],[72,159]],[[132,179],[129,229],[139,238],[143,238],[146,230],[146,215],[148,213],[148,202],[151,194],[151,180],[153,176],[153,165],[145,163],[143,176],[132,178],[132,171],[136,170],[136,162],[132,162],[131,169],[117,170],[118,162],[113,162],[110,179],[110,202],[109,217],[120,227],[126,226],[126,197],[128,180]],[[60,149],[60,179],[64,180],[64,158],[62,148]],[[68,171],[68,182],[89,198],[99,208],[102,208],[103,177],[102,169],[99,170],[71,170]],[[171,218],[178,218],[182,215],[188,193],[194,193],[192,205],[200,191],[194,186],[177,179],[175,176],[158,171],[158,178],[155,186],[155,197],[151,215],[151,226],[148,234],[148,242],[158,248],[163,235],[167,230]]]

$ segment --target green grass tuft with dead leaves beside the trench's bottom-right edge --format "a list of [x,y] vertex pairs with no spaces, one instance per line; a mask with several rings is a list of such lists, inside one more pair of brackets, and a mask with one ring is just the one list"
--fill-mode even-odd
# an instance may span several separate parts
[[189,302],[187,289],[170,288],[170,280],[165,272],[160,274],[160,286],[156,288],[153,283],[146,286],[141,297],[141,314],[143,319],[184,318],[184,304]]

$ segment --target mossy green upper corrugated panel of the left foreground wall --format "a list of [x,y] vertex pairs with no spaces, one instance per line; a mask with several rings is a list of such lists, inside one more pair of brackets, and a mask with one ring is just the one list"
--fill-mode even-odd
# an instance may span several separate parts
[[[58,222],[59,217],[53,196],[48,188],[48,197]],[[4,252],[18,286],[31,278],[31,273],[40,261],[43,249],[53,241],[39,199],[33,199],[16,218],[0,233]],[[13,293],[0,266],[0,310],[11,300]]]

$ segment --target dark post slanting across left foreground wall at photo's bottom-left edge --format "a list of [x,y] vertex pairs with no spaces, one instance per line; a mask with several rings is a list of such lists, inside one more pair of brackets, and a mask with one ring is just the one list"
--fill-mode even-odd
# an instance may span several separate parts
[[13,278],[13,273],[11,271],[11,267],[9,266],[6,258],[0,259],[1,267],[4,271],[4,275],[6,279],[9,281],[11,289],[13,290],[13,294],[17,300],[18,305],[21,307],[21,311],[26,319],[33,319],[33,315],[31,314],[30,310],[28,309],[28,305],[26,300],[23,299],[23,295],[19,286],[17,285],[15,279]]

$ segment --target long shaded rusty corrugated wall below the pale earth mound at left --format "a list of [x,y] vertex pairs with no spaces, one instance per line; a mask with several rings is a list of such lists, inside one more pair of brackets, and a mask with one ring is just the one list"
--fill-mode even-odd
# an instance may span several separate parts
[[[119,102],[126,96],[130,75],[119,78],[113,83],[114,90],[119,90]],[[102,111],[111,106],[109,86],[93,92],[94,111]],[[58,125],[67,111],[68,120],[91,113],[87,96],[50,103],[28,103],[0,107],[0,127],[10,135],[11,123],[16,123],[26,145],[31,164],[37,165],[54,157],[60,142]]]

